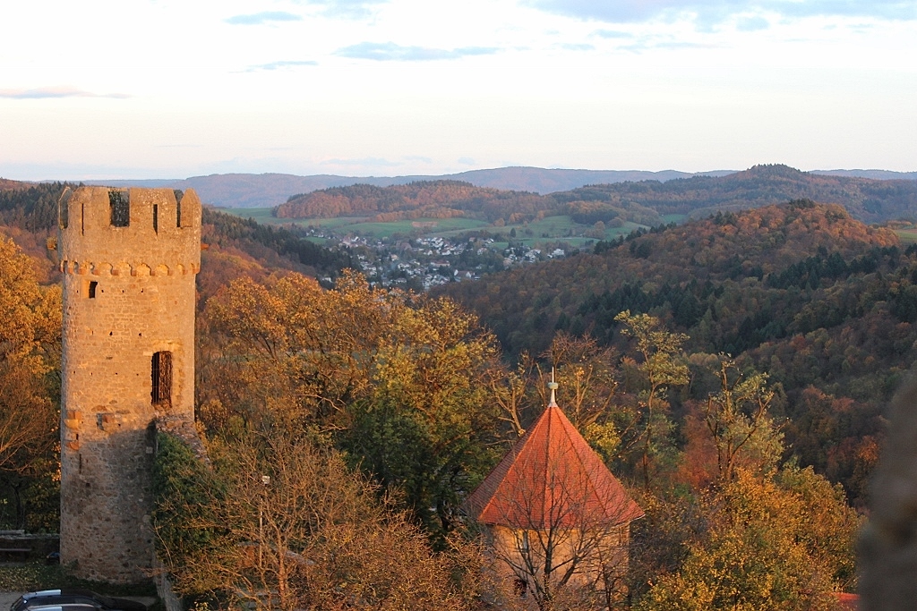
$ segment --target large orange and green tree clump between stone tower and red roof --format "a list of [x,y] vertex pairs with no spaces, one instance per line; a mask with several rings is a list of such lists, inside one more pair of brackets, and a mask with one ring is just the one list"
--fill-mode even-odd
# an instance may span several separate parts
[[496,458],[497,409],[479,380],[497,351],[477,317],[345,273],[334,290],[298,274],[266,286],[240,278],[205,319],[199,381],[212,430],[316,431],[400,489],[443,542],[460,497]]

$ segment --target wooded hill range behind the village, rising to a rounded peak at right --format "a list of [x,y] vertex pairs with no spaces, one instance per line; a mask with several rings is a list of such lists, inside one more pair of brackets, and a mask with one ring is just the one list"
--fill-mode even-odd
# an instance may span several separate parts
[[550,195],[485,189],[457,180],[355,185],[294,196],[276,214],[282,218],[378,215],[380,220],[464,215],[506,223],[569,214],[577,222],[620,218],[654,225],[661,224],[665,214],[700,218],[802,198],[840,204],[867,223],[917,216],[917,181],[826,176],[779,165],[755,166],[722,177],[591,185]]

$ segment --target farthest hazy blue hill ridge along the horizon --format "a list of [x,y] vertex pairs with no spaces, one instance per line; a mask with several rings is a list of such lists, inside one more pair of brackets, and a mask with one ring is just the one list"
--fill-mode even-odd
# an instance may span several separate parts
[[[610,184],[624,181],[668,180],[692,176],[722,177],[735,170],[714,170],[709,172],[681,172],[676,170],[594,170],[594,169],[543,169],[512,167],[497,169],[473,169],[438,176],[395,176],[395,177],[353,177],[332,174],[296,176],[293,174],[211,174],[174,180],[86,180],[86,184],[105,184],[113,187],[169,187],[171,189],[193,188],[206,203],[226,208],[273,207],[286,202],[296,194],[319,191],[329,187],[345,187],[354,184],[370,184],[386,187],[407,184],[416,180],[464,180],[478,187],[510,191],[553,193],[569,191],[588,184]],[[891,172],[882,169],[833,169],[816,170],[812,174],[872,178],[880,180],[917,180],[917,172]]]

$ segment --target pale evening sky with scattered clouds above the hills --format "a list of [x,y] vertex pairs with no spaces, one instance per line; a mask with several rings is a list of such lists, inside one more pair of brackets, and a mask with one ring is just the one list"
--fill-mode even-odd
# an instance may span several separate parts
[[917,0],[0,5],[0,177],[917,170]]

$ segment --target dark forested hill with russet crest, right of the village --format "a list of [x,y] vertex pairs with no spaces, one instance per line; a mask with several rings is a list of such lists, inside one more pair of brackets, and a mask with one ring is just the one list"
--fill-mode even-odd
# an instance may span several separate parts
[[601,246],[442,292],[515,354],[561,331],[623,345],[615,316],[651,313],[687,333],[690,352],[767,372],[786,393],[791,452],[864,494],[881,410],[917,359],[917,247],[810,201]]

